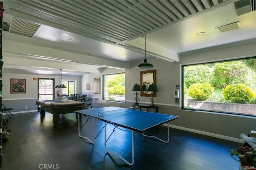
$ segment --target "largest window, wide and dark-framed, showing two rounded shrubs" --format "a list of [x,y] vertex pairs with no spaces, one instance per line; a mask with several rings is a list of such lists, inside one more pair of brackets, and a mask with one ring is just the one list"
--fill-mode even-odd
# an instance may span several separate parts
[[256,116],[256,57],[182,66],[182,109]]

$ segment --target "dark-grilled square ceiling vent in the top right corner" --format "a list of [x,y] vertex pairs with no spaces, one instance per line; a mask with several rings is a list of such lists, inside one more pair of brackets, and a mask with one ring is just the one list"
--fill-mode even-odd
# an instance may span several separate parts
[[255,3],[256,0],[240,0],[234,2],[236,15],[240,16],[255,11]]

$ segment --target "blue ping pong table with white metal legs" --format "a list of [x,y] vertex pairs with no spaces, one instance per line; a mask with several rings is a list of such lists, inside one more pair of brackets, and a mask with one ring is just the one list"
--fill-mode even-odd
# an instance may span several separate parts
[[[143,136],[146,137],[153,137],[156,138],[162,142],[169,142],[169,122],[177,119],[178,116],[173,116],[173,115],[166,115],[166,114],[161,114],[161,113],[153,113],[153,112],[146,112],[146,111],[139,111],[138,107],[137,109],[134,109],[134,107],[131,108],[120,108],[120,107],[101,107],[101,108],[96,108],[96,109],[86,109],[86,110],[80,110],[80,111],[75,111],[76,113],[80,113],[84,116],[88,116],[88,119],[84,123],[84,125],[88,122],[90,117],[93,118],[93,130],[94,130],[94,141],[98,135],[95,137],[95,123],[94,123],[94,118],[99,119],[100,121],[104,121],[104,145],[105,145],[105,150],[109,154],[114,154],[119,156],[124,162],[126,162],[129,165],[132,165],[134,163],[134,131],[140,132],[143,134]],[[80,115],[78,114],[78,115]],[[79,120],[79,119],[78,119]],[[158,127],[160,125],[163,125],[165,123],[168,123],[168,134],[167,135],[167,140],[162,140],[156,136],[150,136],[148,134],[144,134],[146,131]],[[124,159],[122,156],[120,156],[117,153],[109,152],[106,148],[106,125],[107,124],[112,124],[114,125],[114,128],[116,127],[123,127],[126,129],[129,129],[132,132],[132,162],[128,162],[126,159]],[[84,126],[82,125],[82,127]],[[94,143],[94,141],[90,140],[86,136],[81,136],[80,135],[80,121],[78,121],[78,134],[81,138],[86,138],[90,143]],[[103,128],[100,130],[100,132],[103,130]],[[99,133],[100,133],[99,132]],[[114,132],[114,130],[113,130]],[[112,132],[112,133],[113,133]],[[166,132],[165,132],[166,133]],[[111,136],[111,134],[110,134]],[[110,138],[110,136],[108,138]]]

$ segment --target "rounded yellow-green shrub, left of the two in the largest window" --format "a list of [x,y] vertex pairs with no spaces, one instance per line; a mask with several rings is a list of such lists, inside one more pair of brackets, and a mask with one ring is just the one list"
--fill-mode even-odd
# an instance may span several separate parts
[[188,88],[188,95],[198,101],[206,101],[214,91],[210,83],[196,83]]

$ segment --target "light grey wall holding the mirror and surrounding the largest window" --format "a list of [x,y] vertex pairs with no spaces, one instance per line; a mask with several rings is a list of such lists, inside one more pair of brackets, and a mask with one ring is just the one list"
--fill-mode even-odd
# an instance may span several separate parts
[[[255,47],[256,42],[250,42],[188,53],[180,55],[180,62],[177,63],[168,63],[160,59],[148,61],[156,69],[158,92],[154,97],[154,104],[159,106],[158,113],[179,116],[177,120],[171,122],[172,127],[228,140],[237,141],[236,139],[240,139],[241,133],[248,134],[251,130],[256,130],[255,117],[184,111],[180,110],[179,103],[175,103],[174,99],[175,85],[180,84],[181,64],[255,56]],[[132,85],[140,81],[140,70],[136,68],[136,65],[138,63],[130,65],[131,68],[126,71],[126,107],[130,107],[134,103],[135,96],[131,91]],[[139,96],[139,99],[140,103],[150,103],[150,97]]]

